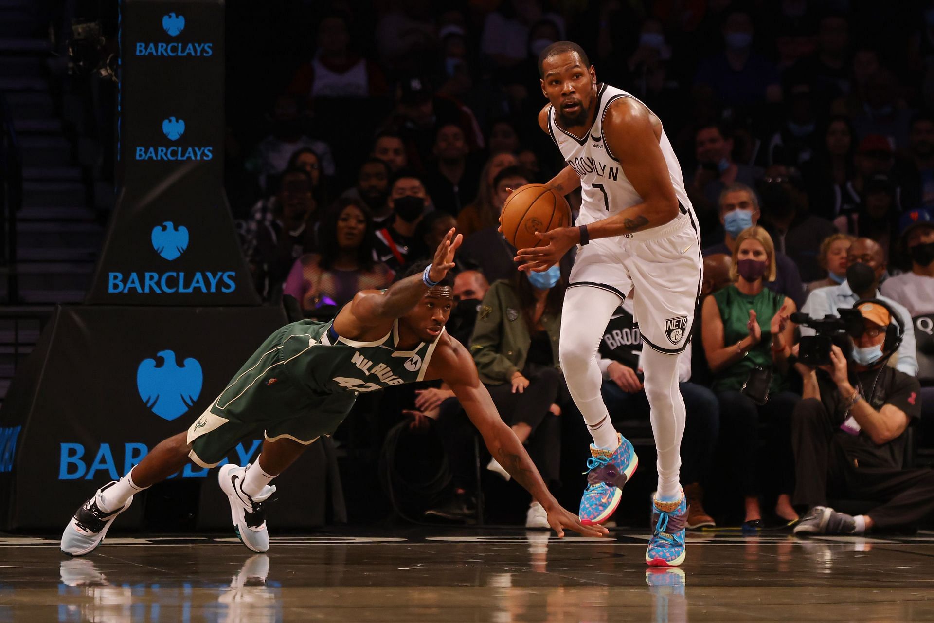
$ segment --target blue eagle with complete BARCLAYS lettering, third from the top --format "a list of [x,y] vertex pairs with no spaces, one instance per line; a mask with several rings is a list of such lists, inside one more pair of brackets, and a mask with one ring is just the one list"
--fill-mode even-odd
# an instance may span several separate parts
[[[149,241],[152,249],[169,262],[177,260],[189,245],[188,228],[166,220],[152,228]],[[198,292],[229,294],[236,290],[235,271],[177,271],[107,274],[108,294],[191,294]]]

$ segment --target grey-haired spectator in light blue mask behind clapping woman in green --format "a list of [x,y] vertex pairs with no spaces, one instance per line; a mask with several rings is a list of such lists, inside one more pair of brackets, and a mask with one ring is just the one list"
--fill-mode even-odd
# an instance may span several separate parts
[[[723,253],[732,256],[736,250],[736,238],[759,219],[759,206],[756,193],[745,184],[734,183],[720,193],[720,223],[723,225],[723,242],[703,249],[703,255]],[[769,290],[785,294],[796,305],[804,302],[804,287],[798,266],[784,253],[775,253],[776,273],[766,282]]]

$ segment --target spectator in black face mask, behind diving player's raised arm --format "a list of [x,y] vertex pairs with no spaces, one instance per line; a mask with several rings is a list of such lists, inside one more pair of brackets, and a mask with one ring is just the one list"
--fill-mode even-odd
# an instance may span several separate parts
[[400,171],[393,179],[389,191],[389,207],[393,217],[387,226],[376,232],[376,258],[385,262],[393,272],[415,260],[420,248],[416,236],[418,223],[425,216],[431,197],[421,177],[409,171]]

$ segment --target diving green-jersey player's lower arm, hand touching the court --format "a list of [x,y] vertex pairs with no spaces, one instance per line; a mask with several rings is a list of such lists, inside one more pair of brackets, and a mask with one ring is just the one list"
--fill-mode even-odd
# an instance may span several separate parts
[[563,508],[551,495],[516,433],[502,421],[487,388],[476,374],[474,360],[460,342],[448,336],[446,344],[439,345],[432,357],[432,373],[439,375],[454,391],[467,417],[483,435],[490,453],[517,483],[531,493],[536,502],[542,504],[548,514],[548,523],[559,537],[564,536],[565,528],[585,536],[607,534],[602,526],[582,525],[576,515]]

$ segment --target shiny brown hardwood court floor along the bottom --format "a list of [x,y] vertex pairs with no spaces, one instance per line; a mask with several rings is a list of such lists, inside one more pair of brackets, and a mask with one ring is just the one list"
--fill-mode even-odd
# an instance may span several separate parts
[[108,538],[64,556],[0,535],[6,621],[909,621],[934,619],[934,533],[691,537],[647,571],[647,534],[401,529],[273,538]]

